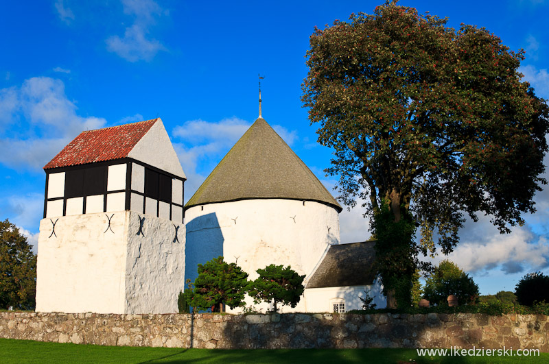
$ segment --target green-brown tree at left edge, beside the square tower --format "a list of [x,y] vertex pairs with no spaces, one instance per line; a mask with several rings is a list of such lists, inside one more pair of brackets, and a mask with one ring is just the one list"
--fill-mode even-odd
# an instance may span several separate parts
[[0,221],[0,307],[32,310],[35,293],[36,255],[14,224]]

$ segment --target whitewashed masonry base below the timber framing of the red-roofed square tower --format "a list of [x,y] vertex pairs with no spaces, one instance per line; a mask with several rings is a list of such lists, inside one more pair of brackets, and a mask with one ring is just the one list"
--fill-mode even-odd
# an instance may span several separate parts
[[[36,311],[176,313],[185,273],[185,226],[173,243],[172,221],[139,214],[59,217],[40,221]],[[55,219],[53,219],[55,221]],[[51,235],[51,237],[50,237]]]

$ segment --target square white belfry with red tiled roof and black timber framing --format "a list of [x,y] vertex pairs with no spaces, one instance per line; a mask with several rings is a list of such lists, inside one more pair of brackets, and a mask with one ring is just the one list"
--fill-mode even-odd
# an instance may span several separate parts
[[36,311],[177,312],[185,173],[161,119],[82,132],[44,170]]

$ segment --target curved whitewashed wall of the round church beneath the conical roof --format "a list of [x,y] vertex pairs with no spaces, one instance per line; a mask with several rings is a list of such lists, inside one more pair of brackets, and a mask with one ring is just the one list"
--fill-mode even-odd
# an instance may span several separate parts
[[[310,274],[327,245],[340,243],[337,210],[318,202],[248,199],[207,204],[189,208],[185,221],[185,278],[193,282],[198,263],[220,255],[240,265],[250,279],[257,278],[257,269],[270,264],[290,265],[299,274]],[[303,302],[283,310],[290,311],[304,312]]]

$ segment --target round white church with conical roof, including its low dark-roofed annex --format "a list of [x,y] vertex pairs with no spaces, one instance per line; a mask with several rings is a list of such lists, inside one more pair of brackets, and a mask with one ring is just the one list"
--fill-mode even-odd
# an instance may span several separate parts
[[267,265],[290,265],[305,274],[306,289],[298,306],[282,312],[360,309],[365,290],[384,306],[373,286],[373,243],[340,244],[341,210],[259,117],[185,205],[185,278],[194,281],[197,265],[216,256],[240,265],[250,279]]

